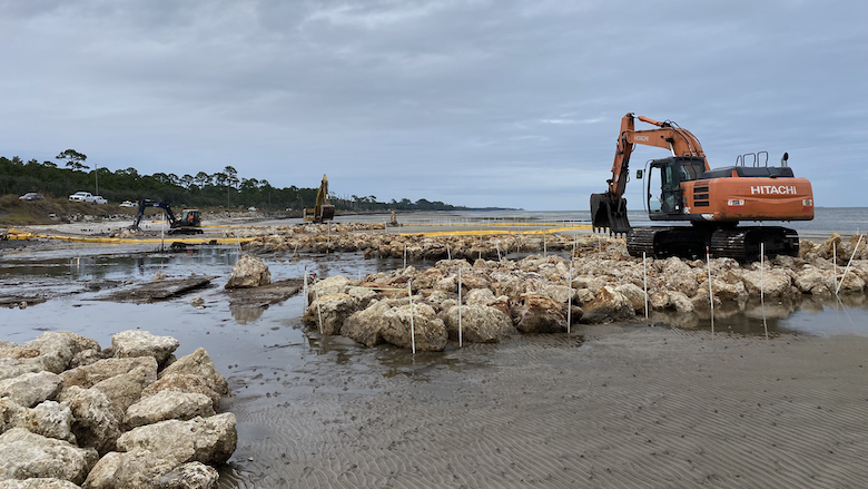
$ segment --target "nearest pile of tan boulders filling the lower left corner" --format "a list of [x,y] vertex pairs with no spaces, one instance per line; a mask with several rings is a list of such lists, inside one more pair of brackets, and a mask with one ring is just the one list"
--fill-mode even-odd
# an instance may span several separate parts
[[235,451],[226,380],[146,331],[0,341],[0,487],[214,488]]

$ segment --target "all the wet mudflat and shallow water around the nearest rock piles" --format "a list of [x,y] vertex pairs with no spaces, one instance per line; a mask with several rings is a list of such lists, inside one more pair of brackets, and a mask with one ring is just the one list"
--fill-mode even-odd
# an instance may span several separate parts
[[[225,253],[224,253],[225,252]],[[233,255],[48,258],[1,288],[57,292],[0,309],[3,340],[61,329],[108,346],[140,327],[208,350],[233,397],[238,449],[221,488],[659,487],[839,488],[868,480],[868,312],[801,311],[674,329],[641,322],[501,344],[450,343],[412,355],[322,338],[302,324],[300,295],[233,307],[221,291]],[[392,270],[358,255],[270,261],[276,281]],[[18,270],[18,268],[14,268]],[[216,275],[190,296],[97,301],[158,272]],[[10,275],[11,273],[11,275]],[[16,285],[19,284],[19,285]],[[21,285],[23,284],[23,285]],[[749,325],[746,326],[746,324]]]

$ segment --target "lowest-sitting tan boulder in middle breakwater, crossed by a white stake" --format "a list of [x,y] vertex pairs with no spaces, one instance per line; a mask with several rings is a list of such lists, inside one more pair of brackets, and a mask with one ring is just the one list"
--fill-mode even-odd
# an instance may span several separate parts
[[446,348],[446,325],[427,304],[417,304],[414,301],[412,305],[387,310],[383,317],[386,322],[381,333],[387,343],[410,349],[413,345],[412,340],[415,339],[416,351],[443,351]]

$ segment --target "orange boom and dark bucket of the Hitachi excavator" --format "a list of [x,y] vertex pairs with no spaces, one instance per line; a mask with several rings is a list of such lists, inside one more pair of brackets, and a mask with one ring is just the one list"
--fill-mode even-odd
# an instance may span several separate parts
[[[591,223],[596,229],[609,229],[612,234],[627,234],[632,228],[627,217],[627,199],[624,192],[630,179],[630,156],[638,144],[669,149],[673,156],[699,156],[703,159],[702,146],[689,130],[678,127],[674,123],[659,123],[648,117],[639,116],[639,120],[657,126],[657,129],[635,130],[634,116],[628,113],[621,118],[621,130],[618,135],[612,178],[606,179],[609,189],[604,194],[591,194]],[[706,169],[709,169],[706,160]]]

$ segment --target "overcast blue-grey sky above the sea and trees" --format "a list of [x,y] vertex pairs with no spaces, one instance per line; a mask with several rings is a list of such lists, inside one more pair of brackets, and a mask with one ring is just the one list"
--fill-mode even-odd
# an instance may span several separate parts
[[861,0],[0,0],[0,156],[573,211],[635,113],[712,167],[788,151],[817,206],[868,206],[866,19]]

